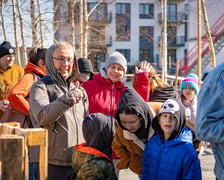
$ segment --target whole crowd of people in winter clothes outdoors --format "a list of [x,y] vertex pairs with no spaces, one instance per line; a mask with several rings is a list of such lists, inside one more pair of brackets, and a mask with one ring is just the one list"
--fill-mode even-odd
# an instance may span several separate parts
[[[202,141],[211,143],[215,175],[224,179],[223,65],[199,88],[189,74],[180,91],[142,61],[132,87],[127,60],[111,53],[94,72],[68,42],[34,47],[26,67],[15,65],[8,41],[0,45],[0,122],[10,106],[25,128],[48,130],[48,179],[119,179],[130,169],[139,179],[202,179]],[[39,179],[38,147],[29,149],[30,179]]]

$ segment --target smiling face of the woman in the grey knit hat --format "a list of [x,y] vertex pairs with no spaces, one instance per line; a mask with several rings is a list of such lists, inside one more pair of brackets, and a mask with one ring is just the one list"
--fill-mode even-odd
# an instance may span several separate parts
[[111,64],[107,68],[107,77],[113,82],[117,83],[124,77],[124,69],[120,64]]

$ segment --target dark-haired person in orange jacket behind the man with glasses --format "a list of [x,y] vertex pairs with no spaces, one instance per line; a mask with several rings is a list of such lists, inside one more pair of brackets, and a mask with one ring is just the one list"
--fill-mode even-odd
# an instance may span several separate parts
[[10,90],[8,100],[11,106],[23,114],[29,114],[29,94],[32,84],[39,78],[46,75],[45,54],[46,48],[33,48],[28,57],[24,76]]

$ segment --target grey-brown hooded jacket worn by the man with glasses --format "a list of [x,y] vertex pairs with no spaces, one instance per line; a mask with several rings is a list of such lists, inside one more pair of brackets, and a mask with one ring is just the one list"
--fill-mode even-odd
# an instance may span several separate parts
[[[43,81],[37,81],[30,91],[29,114],[34,127],[48,129],[48,163],[70,166],[74,146],[84,142],[82,122],[88,114],[88,97],[80,87],[84,97],[76,103],[72,77],[66,82],[51,59],[46,60],[46,69],[53,80],[54,100],[50,102]],[[37,162],[38,156],[32,155],[31,160]]]

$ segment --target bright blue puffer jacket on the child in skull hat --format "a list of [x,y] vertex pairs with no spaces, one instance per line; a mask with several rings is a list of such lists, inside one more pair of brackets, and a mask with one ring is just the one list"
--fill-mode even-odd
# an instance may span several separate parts
[[146,144],[142,157],[142,180],[201,180],[197,153],[189,143],[188,132],[163,141],[159,135]]

